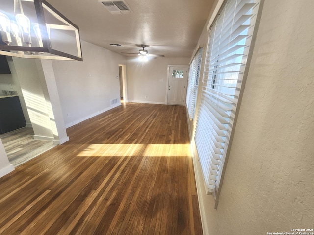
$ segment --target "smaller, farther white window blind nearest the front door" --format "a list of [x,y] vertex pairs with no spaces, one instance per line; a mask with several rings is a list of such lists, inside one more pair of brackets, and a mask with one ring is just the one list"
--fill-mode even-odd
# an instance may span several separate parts
[[198,89],[198,82],[200,77],[201,63],[202,63],[203,47],[200,47],[196,52],[188,74],[188,85],[186,93],[186,106],[190,120],[194,119],[195,104]]

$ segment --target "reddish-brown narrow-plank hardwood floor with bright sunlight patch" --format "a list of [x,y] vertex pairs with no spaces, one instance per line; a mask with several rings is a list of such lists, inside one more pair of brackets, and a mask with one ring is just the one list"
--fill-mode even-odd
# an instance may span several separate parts
[[126,103],[0,178],[1,235],[202,235],[185,107]]

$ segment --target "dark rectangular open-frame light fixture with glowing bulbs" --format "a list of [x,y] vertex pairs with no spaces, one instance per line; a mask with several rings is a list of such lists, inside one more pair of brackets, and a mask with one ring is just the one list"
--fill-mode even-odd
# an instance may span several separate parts
[[0,55],[82,61],[78,26],[45,0],[1,0]]

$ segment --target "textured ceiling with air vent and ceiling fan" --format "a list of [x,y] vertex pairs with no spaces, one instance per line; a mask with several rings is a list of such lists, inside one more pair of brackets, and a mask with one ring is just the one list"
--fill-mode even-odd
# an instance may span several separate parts
[[192,56],[214,2],[125,0],[132,13],[113,15],[98,0],[47,1],[78,25],[84,41],[117,53],[137,53],[136,45],[145,44],[149,53],[165,57]]

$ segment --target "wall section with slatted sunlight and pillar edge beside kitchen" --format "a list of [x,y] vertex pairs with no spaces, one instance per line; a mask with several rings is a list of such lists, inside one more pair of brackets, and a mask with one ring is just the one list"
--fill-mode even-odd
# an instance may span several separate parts
[[68,141],[51,60],[13,57],[9,65],[23,94],[34,138],[55,144]]

